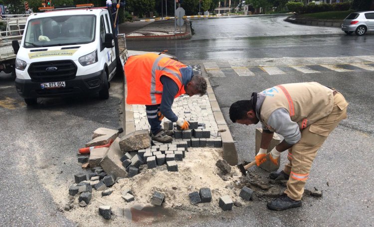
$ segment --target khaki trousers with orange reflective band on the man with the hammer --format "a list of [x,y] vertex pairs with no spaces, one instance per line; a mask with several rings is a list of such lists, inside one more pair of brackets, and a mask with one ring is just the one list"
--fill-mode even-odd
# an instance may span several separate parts
[[284,193],[291,199],[301,200],[318,149],[325,142],[330,132],[338,126],[339,122],[347,118],[347,106],[348,103],[343,95],[337,93],[334,96],[334,106],[331,114],[304,128],[301,131],[300,141],[288,149],[289,163],[283,171],[289,174],[290,178]]

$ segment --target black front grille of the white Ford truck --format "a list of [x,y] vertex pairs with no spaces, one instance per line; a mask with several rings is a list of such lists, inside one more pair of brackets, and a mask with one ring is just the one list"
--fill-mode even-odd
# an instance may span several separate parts
[[[50,69],[47,71],[47,69]],[[55,71],[51,68],[57,68]],[[34,62],[28,68],[28,75],[32,81],[56,82],[75,78],[77,66],[71,60]]]

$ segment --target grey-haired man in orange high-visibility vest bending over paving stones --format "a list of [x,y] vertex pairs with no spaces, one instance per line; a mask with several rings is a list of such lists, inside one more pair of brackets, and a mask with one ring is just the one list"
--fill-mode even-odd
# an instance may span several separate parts
[[173,132],[161,127],[161,120],[168,118],[182,130],[189,123],[172,111],[174,99],[187,94],[190,97],[206,93],[206,81],[193,75],[192,68],[171,58],[149,53],[129,57],[125,64],[127,80],[127,104],[146,105],[153,140],[162,143],[173,141]]

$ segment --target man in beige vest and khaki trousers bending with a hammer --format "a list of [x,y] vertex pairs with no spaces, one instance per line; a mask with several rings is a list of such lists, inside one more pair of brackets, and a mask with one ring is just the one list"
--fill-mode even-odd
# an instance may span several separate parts
[[[283,171],[270,173],[271,179],[288,180],[285,195],[267,204],[270,210],[301,206],[304,185],[317,151],[339,122],[347,118],[347,106],[342,94],[316,82],[278,85],[231,105],[232,122],[262,124],[260,151],[255,157],[257,165],[267,157],[277,165],[280,153],[288,149],[289,163]],[[284,140],[266,156],[274,132]]]

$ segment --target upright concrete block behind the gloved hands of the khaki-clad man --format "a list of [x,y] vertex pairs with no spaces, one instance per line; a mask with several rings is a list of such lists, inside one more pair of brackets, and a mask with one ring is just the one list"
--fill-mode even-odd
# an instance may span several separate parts
[[[262,128],[256,128],[256,152],[255,152],[255,155],[260,150],[261,138],[262,138]],[[273,138],[270,141],[270,145],[269,145],[266,153],[269,153],[275,147],[275,145],[277,145],[280,142],[281,142],[280,137],[278,136],[277,133],[274,132]],[[280,156],[278,158],[278,165],[274,165],[274,163],[270,161],[270,158],[267,158],[266,161],[260,165],[260,167],[264,170],[269,171],[269,172],[277,171],[279,169],[279,165],[280,165],[280,160],[279,159],[280,159]]]

